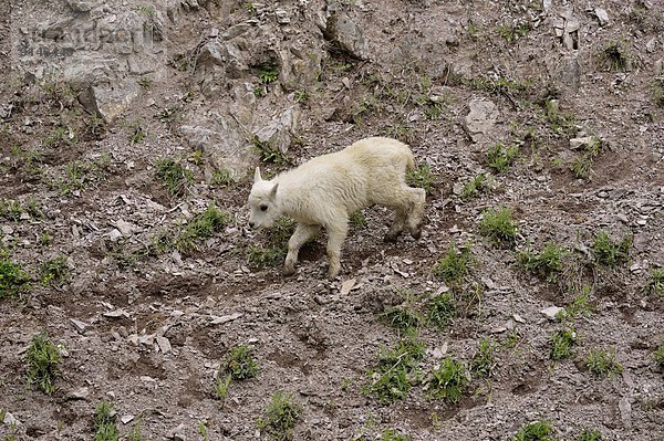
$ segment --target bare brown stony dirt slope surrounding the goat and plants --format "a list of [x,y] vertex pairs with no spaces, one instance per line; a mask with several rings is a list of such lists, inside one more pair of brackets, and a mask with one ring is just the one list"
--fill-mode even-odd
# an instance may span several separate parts
[[[433,183],[422,238],[384,243],[392,214],[367,208],[332,281],[324,277],[324,234],[305,245],[293,276],[252,264],[248,250],[267,246],[267,235],[247,227],[251,171],[215,185],[208,153],[196,153],[179,129],[186,116],[163,117],[174,103],[181,115],[226,112],[237,104],[230,86],[210,98],[201,93],[199,71],[164,65],[163,75],[105,123],[76,94],[63,92],[65,84],[30,73],[34,64],[12,52],[18,29],[38,29],[69,7],[60,0],[0,7],[0,60],[8,64],[0,72],[0,197],[35,203],[42,212],[0,216],[4,259],[32,279],[20,295],[0,293],[0,410],[17,421],[0,421],[0,439],[91,440],[101,401],[113,405],[121,439],[136,439],[127,438],[135,427],[144,440],[269,439],[257,420],[283,390],[303,409],[295,440],[391,439],[387,429],[413,440],[510,440],[532,421],[549,421],[560,440],[579,439],[583,428],[599,430],[602,440],[664,440],[664,371],[653,356],[664,343],[664,296],[643,290],[664,265],[664,98],[656,95],[656,85],[664,87],[657,76],[664,4],[329,3],[155,7],[177,12],[164,32],[169,61],[195,60],[200,35],[211,29],[274,27],[271,17],[280,8],[290,22],[266,41],[320,43],[324,57],[315,78],[294,90],[279,78],[257,95],[252,112],[272,114],[284,105],[300,111],[290,164],[263,164],[268,172],[374,135],[406,141],[418,164],[428,165]],[[111,2],[104,13],[139,7],[136,0]],[[312,20],[333,7],[347,11],[364,33],[367,60],[317,31]],[[608,22],[600,20],[602,11]],[[558,35],[556,23],[572,15],[579,29],[568,48],[567,31]],[[606,50],[611,44],[618,61]],[[580,66],[578,87],[569,80],[570,60]],[[474,140],[465,117],[480,98],[496,105],[497,117]],[[134,137],[136,127],[145,137]],[[572,149],[570,139],[591,135],[601,148],[580,178],[570,168],[583,150]],[[500,174],[486,165],[496,143],[519,149]],[[249,137],[246,149],[252,151]],[[183,195],[169,195],[156,176],[158,159],[167,157],[194,176]],[[83,171],[74,176],[76,165]],[[489,189],[461,199],[461,186],[480,172],[491,172]],[[197,250],[118,261],[118,253],[145,249],[211,202],[230,221]],[[559,284],[530,274],[513,250],[480,234],[483,212],[495,207],[513,213],[516,250],[554,241],[587,263],[568,269]],[[600,230],[613,240],[631,238],[626,262],[588,263]],[[453,244],[470,244],[474,256],[455,293],[476,297],[444,329],[417,328],[426,347],[417,366],[423,379],[413,380],[404,399],[381,403],[366,392],[370,370],[382,348],[403,338],[382,314],[404,295],[422,307],[449,290],[432,269]],[[69,277],[42,283],[40,266],[56,256],[66,256]],[[564,324],[542,314],[569,306],[582,286],[592,313]],[[551,336],[562,326],[574,327],[577,353],[553,361]],[[63,351],[52,395],[27,385],[27,348],[39,333]],[[489,378],[473,378],[458,403],[427,393],[432,368],[448,356],[469,366],[485,337],[496,347]],[[215,377],[236,345],[251,348],[259,375],[231,381],[219,399]],[[622,372],[590,372],[584,357],[593,348],[614,350]]]

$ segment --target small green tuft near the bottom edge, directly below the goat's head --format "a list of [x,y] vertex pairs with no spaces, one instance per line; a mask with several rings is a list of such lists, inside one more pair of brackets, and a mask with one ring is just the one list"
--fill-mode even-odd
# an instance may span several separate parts
[[302,407],[290,393],[276,392],[258,420],[258,428],[276,440],[292,440],[293,429],[302,414]]

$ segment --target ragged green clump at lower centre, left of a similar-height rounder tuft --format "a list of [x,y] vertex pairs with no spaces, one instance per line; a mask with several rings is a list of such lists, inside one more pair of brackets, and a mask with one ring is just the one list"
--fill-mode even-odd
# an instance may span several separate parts
[[411,389],[411,376],[424,358],[424,344],[409,336],[401,339],[394,348],[381,348],[376,366],[370,370],[371,382],[363,388],[382,403],[406,398]]

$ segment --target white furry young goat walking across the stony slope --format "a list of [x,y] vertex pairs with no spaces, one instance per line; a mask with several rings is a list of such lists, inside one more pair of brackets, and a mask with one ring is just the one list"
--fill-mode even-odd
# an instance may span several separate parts
[[324,228],[328,275],[334,277],[341,269],[349,217],[357,209],[377,203],[395,210],[385,241],[395,241],[406,227],[413,238],[419,238],[425,192],[406,185],[406,172],[414,167],[408,146],[382,137],[365,138],[341,151],[319,156],[271,180],[263,180],[257,167],[249,195],[249,225],[270,227],[283,214],[298,222],[288,243],[286,274],[294,273],[300,246]]

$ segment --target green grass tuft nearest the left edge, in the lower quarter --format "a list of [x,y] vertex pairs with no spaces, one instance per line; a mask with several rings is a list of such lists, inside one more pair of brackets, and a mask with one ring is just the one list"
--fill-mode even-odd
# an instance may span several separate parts
[[32,337],[28,354],[28,385],[35,384],[43,392],[52,395],[55,390],[55,378],[60,376],[60,348],[51,343],[44,334]]

